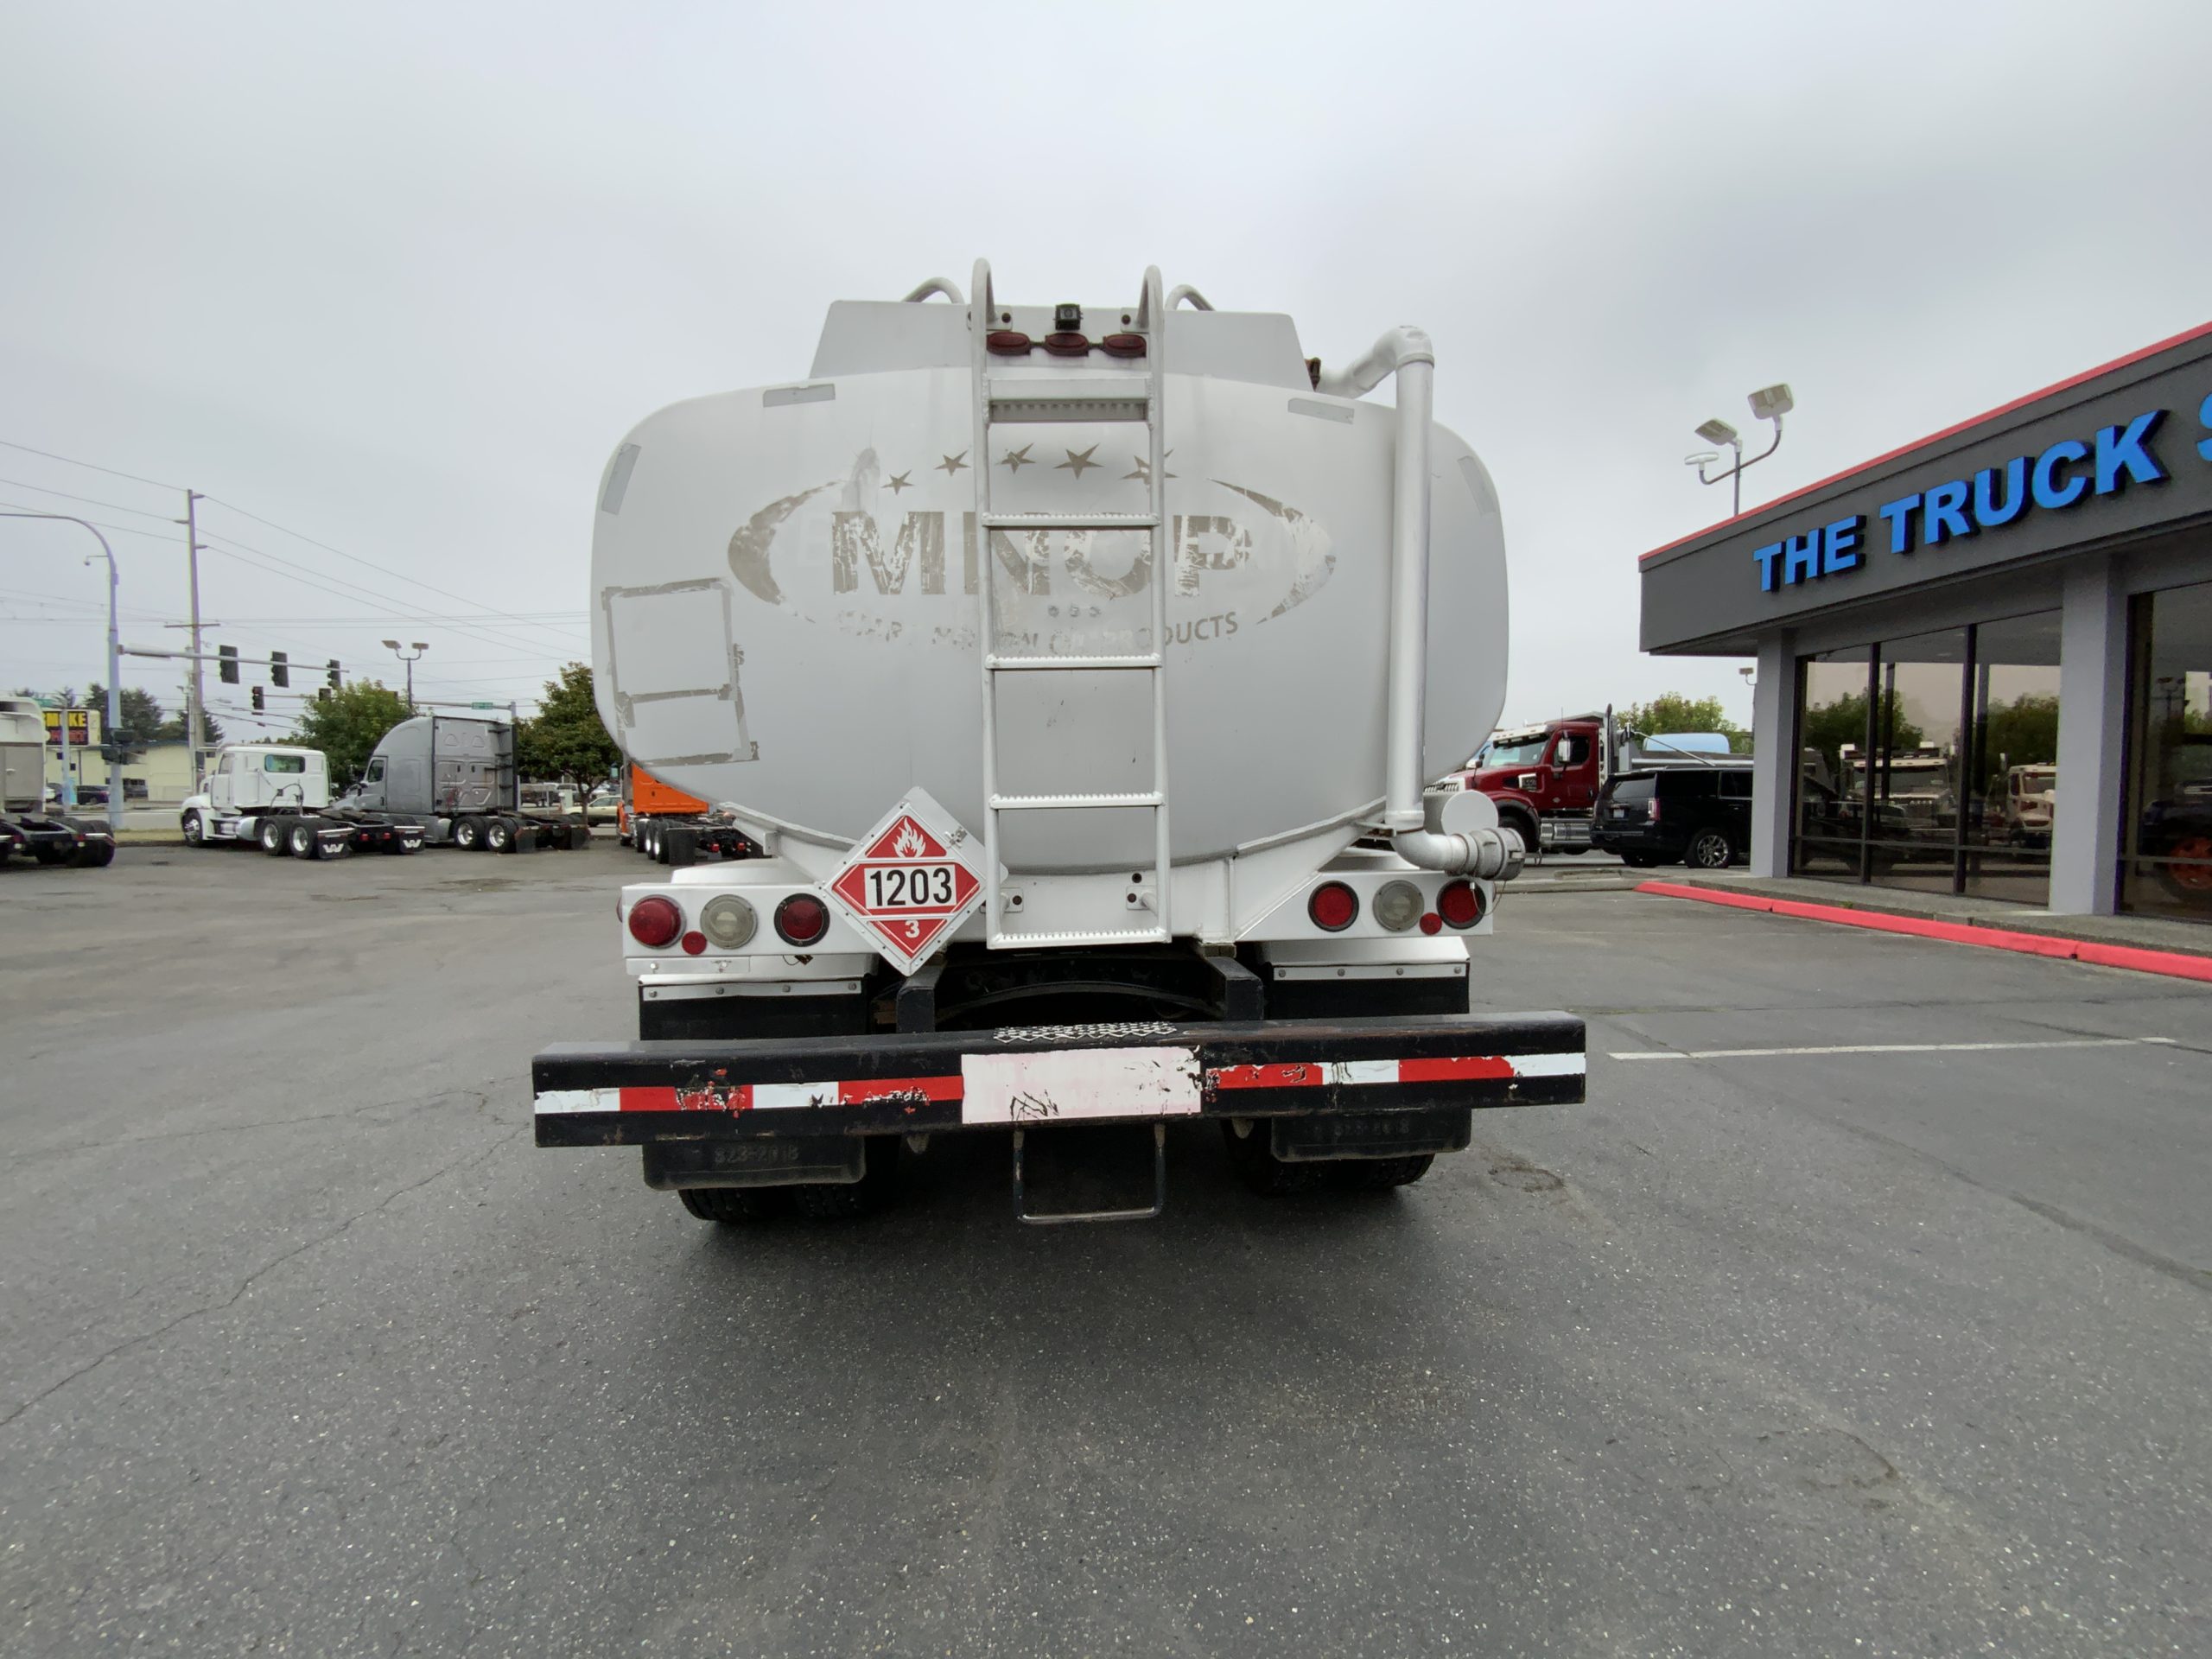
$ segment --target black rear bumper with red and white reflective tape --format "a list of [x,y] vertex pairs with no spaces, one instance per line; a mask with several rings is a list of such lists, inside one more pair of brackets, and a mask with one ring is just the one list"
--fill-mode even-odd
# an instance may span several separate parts
[[555,1044],[540,1146],[1294,1117],[1584,1097],[1568,1013]]

